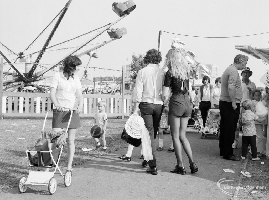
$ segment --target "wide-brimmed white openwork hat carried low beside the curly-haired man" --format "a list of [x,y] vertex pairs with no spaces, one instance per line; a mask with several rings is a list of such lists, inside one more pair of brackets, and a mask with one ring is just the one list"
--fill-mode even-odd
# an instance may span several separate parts
[[129,117],[125,124],[125,130],[133,138],[141,138],[141,130],[145,126],[143,118],[137,114]]

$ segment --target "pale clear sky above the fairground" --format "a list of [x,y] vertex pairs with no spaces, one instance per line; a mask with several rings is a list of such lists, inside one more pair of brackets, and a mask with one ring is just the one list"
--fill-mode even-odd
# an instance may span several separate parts
[[[0,42],[13,52],[23,52],[67,2],[68,0],[0,0]],[[118,15],[111,10],[113,2],[110,0],[73,0],[49,46],[77,37],[117,20]],[[171,47],[171,39],[177,37],[185,42],[187,49],[191,49],[196,54],[198,62],[218,66],[220,74],[233,63],[233,58],[237,54],[247,55],[235,49],[235,45],[269,48],[269,33],[248,37],[231,37],[269,31],[269,1],[267,0],[134,0],[134,2],[136,3],[136,8],[130,15],[112,26],[112,28],[126,28],[127,34],[123,35],[119,40],[110,42],[95,50],[98,58],[90,60],[90,67],[122,70],[123,65],[130,64],[132,54],[145,54],[151,48],[158,49],[158,33],[160,30],[170,32],[162,33],[161,52],[163,60]],[[25,51],[25,55],[40,50],[51,29],[52,27],[38,39],[33,47]],[[78,46],[91,36],[87,35],[59,48]],[[110,38],[105,31],[93,43],[108,40]],[[90,46],[84,47],[83,51],[90,48]],[[9,54],[1,45],[0,49]],[[56,64],[56,61],[70,51],[71,49],[47,52],[40,63]],[[10,58],[15,57],[11,55]],[[32,61],[34,62],[33,58]],[[85,55],[80,58],[83,62],[82,66],[87,66],[89,56]],[[24,73],[24,66],[20,64],[17,66]],[[264,87],[260,82],[260,78],[266,73],[269,66],[264,64],[263,60],[256,59],[253,56],[249,56],[247,66],[253,72],[250,80],[257,87]],[[4,70],[6,68],[7,66],[5,66]],[[42,68],[38,67],[37,71],[39,70],[42,70]],[[83,70],[84,68],[82,67],[79,73],[80,78],[82,78]],[[48,75],[53,73],[55,72],[49,72]],[[121,76],[122,73],[90,68],[88,69],[88,74],[88,78],[92,80],[93,77],[97,76]]]

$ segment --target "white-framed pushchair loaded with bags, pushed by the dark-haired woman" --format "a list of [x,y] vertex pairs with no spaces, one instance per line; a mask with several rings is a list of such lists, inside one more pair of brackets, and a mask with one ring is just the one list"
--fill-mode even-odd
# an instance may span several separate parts
[[[63,174],[59,169],[59,161],[63,151],[63,144],[68,137],[67,130],[72,118],[72,111],[68,121],[68,125],[65,132],[47,132],[44,131],[45,122],[50,109],[46,113],[43,128],[40,134],[37,144],[29,151],[26,151],[26,156],[29,160],[29,175],[28,177],[21,177],[19,180],[19,192],[24,193],[27,189],[27,185],[46,185],[50,194],[54,194],[57,188],[56,179],[53,177],[58,169],[58,175],[63,177],[63,183],[66,187],[71,184],[71,173],[66,172]],[[65,109],[70,110],[70,109]],[[32,168],[52,168],[55,167],[54,172],[41,172],[40,170],[32,171]]]

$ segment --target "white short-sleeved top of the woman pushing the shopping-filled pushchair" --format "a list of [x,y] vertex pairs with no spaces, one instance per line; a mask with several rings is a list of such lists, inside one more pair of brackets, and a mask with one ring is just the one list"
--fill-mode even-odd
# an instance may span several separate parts
[[74,74],[74,79],[69,77],[70,80],[63,75],[63,72],[54,74],[51,79],[51,87],[56,88],[56,100],[59,105],[70,108],[71,110],[77,109],[76,90],[82,89],[80,79]]

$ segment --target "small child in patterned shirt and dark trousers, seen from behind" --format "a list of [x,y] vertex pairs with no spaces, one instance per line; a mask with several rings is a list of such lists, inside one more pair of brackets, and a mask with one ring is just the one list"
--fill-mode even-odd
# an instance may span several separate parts
[[262,122],[266,117],[259,118],[253,110],[253,103],[250,99],[246,99],[241,103],[245,111],[239,116],[239,124],[243,126],[243,137],[242,137],[242,155],[241,158],[245,159],[247,155],[247,147],[250,144],[252,151],[252,160],[260,160],[257,157],[256,147],[256,127],[255,121]]

